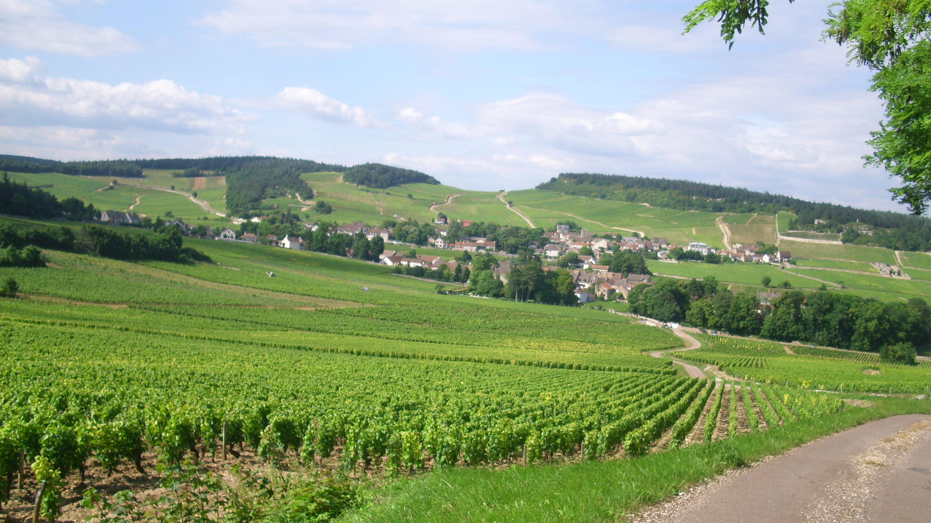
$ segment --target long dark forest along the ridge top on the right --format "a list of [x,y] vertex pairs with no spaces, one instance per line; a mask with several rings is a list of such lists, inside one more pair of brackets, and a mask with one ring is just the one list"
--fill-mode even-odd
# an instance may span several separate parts
[[[907,245],[883,245],[900,250],[927,250],[931,248],[931,219],[898,212],[843,207],[828,203],[815,203],[782,194],[760,193],[697,181],[668,180],[608,174],[561,173],[537,185],[562,194],[591,198],[650,204],[653,207],[708,212],[776,213],[789,211],[797,215],[796,226],[806,228],[816,220],[835,223],[862,223],[889,229],[885,243],[895,244],[904,238]],[[917,246],[915,244],[918,244]],[[906,248],[919,247],[919,248]]]

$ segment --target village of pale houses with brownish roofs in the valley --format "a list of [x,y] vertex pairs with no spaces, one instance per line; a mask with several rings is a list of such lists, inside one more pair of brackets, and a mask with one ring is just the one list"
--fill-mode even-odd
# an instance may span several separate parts
[[[260,223],[262,217],[252,218],[252,222]],[[101,213],[101,221],[112,223],[127,223],[138,225],[140,218],[136,213],[121,211],[105,211]],[[471,226],[474,221],[462,220],[456,221],[463,228]],[[234,229],[225,226],[223,230],[214,233],[212,229],[204,231],[202,225],[196,226],[186,224],[182,220],[163,221],[166,226],[178,225],[185,235],[195,237],[207,237],[221,241],[235,241],[252,244],[263,244],[273,247],[290,248],[294,250],[307,250],[308,242],[302,235],[256,235],[253,233],[238,234]],[[426,239],[425,246],[416,246],[409,242],[398,241],[393,229],[390,227],[370,226],[363,221],[354,221],[352,223],[343,223],[335,227],[330,227],[327,235],[349,235],[352,237],[364,237],[368,240],[380,238],[382,245],[406,246],[405,249],[384,249],[378,255],[377,262],[389,267],[395,267],[399,274],[407,274],[423,277],[424,275],[448,274],[451,275],[451,281],[465,283],[469,280],[469,275],[473,272],[472,255],[490,254],[494,256],[492,273],[495,278],[503,284],[507,283],[508,275],[511,273],[514,259],[519,255],[506,253],[501,250],[497,242],[487,237],[479,236],[459,236],[455,238],[448,237],[449,228],[447,219],[440,216],[434,224],[437,226],[433,230],[435,235]],[[304,223],[303,227],[309,234],[317,232],[321,226],[319,222]],[[201,235],[198,235],[200,229]],[[773,263],[782,264],[791,262],[791,253],[789,251],[775,250],[774,248],[765,248],[764,246],[751,244],[735,244],[731,249],[716,249],[708,247],[708,244],[702,242],[692,242],[687,246],[680,247],[671,244],[667,238],[654,237],[647,238],[637,233],[632,235],[591,235],[586,229],[576,229],[566,224],[559,224],[554,227],[555,230],[544,233],[539,241],[530,241],[523,248],[525,255],[533,255],[542,263],[544,271],[557,271],[565,269],[573,278],[575,285],[574,294],[579,303],[596,302],[596,301],[619,301],[627,300],[630,291],[638,285],[652,285],[653,279],[649,274],[632,274],[611,271],[610,258],[615,252],[636,252],[645,258],[658,260],[661,262],[749,262],[749,263]],[[543,244],[543,245],[540,245]],[[452,254],[448,257],[416,253],[416,248],[433,248],[449,251],[458,251],[458,254]],[[463,253],[469,253],[464,256]],[[349,253],[351,254],[351,253]],[[608,260],[605,260],[605,259]],[[420,268],[420,270],[416,270]],[[412,270],[413,269],[413,270]],[[454,277],[452,277],[454,275]],[[775,299],[780,293],[777,291],[767,291],[761,296],[761,300],[766,302]]]

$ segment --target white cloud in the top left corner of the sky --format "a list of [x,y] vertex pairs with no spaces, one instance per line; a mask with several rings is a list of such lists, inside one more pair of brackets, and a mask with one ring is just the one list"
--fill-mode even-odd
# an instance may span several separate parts
[[112,27],[91,27],[64,20],[49,0],[0,0],[0,42],[83,56],[104,56],[136,49],[136,43]]

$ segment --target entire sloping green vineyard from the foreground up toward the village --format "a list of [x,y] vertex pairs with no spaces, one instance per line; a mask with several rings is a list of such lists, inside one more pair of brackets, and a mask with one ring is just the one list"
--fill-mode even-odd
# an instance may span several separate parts
[[[293,497],[306,495],[327,520],[369,481],[607,462],[830,415],[841,399],[804,390],[820,387],[785,365],[872,365],[699,335],[705,346],[677,354],[742,380],[696,380],[644,354],[680,338],[627,316],[440,295],[324,254],[195,243],[215,263],[45,251],[46,268],[0,268],[20,288],[0,298],[9,514],[31,515],[46,481],[44,517],[302,520],[281,514],[310,506]],[[181,493],[146,501],[159,488]],[[193,506],[183,492],[213,516],[171,516]]]

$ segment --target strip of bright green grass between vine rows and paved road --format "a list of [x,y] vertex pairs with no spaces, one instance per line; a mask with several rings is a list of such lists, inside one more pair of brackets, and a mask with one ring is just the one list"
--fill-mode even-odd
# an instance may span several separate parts
[[931,414],[931,401],[871,398],[870,409],[793,422],[719,442],[632,460],[566,465],[457,468],[403,478],[372,490],[342,521],[600,522],[623,520],[706,477],[759,461],[865,422]]

